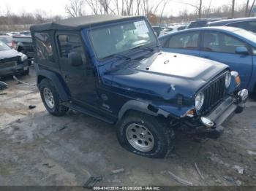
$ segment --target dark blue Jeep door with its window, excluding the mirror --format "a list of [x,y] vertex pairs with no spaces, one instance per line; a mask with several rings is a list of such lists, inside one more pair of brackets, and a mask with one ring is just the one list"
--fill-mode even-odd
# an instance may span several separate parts
[[[78,34],[57,34],[59,45],[59,66],[67,84],[72,101],[85,106],[97,104],[96,80],[93,67],[86,58],[83,43]],[[83,60],[81,66],[70,66],[68,55],[78,52]]]

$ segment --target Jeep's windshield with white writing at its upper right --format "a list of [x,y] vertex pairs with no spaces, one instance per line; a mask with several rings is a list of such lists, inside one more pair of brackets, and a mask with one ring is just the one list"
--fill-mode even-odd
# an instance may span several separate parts
[[90,37],[99,59],[157,42],[145,20],[94,29]]

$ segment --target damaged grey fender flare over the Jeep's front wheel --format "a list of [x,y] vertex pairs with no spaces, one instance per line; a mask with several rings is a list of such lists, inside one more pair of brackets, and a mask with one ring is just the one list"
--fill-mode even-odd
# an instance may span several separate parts
[[153,106],[152,104],[148,104],[146,102],[138,101],[138,100],[129,100],[119,110],[118,120],[120,120],[124,116],[124,114],[129,110],[143,112],[156,117],[158,115],[163,115],[165,118],[167,118],[170,115],[170,113],[165,112],[164,110],[159,109],[156,106]]

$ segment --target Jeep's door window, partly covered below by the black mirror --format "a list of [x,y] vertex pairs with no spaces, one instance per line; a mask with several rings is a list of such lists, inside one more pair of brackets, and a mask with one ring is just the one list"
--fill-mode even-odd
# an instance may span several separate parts
[[78,52],[84,57],[80,36],[77,34],[61,34],[58,36],[60,57],[67,58],[70,52]]

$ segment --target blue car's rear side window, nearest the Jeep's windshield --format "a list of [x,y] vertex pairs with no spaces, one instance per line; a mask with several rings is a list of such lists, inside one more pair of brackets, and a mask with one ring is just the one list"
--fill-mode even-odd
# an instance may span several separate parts
[[199,33],[188,33],[172,36],[166,47],[197,50],[198,44]]

